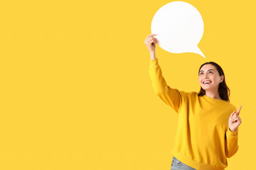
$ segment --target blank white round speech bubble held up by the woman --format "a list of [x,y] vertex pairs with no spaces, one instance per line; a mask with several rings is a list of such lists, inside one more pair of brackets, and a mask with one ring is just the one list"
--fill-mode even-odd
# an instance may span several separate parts
[[152,19],[151,33],[157,34],[154,37],[159,40],[158,45],[168,52],[194,52],[205,57],[198,48],[203,18],[191,4],[173,1],[159,8]]

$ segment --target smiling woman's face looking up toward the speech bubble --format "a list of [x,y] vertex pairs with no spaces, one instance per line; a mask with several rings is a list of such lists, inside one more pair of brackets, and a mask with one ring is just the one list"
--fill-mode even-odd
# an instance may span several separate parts
[[218,91],[218,86],[224,79],[223,75],[220,77],[218,70],[213,64],[203,65],[203,67],[200,69],[198,77],[199,84],[205,91]]

